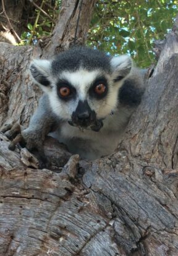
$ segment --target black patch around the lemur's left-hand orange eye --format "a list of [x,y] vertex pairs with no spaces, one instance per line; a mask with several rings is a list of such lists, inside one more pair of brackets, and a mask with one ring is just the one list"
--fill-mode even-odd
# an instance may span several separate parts
[[[75,98],[76,89],[67,80],[60,79],[57,81],[56,85],[57,85],[57,95],[59,96],[59,98],[61,98],[61,100],[68,101],[68,100],[72,100],[72,98]],[[67,88],[67,90],[70,90],[69,95],[61,96],[60,92],[62,88]]]

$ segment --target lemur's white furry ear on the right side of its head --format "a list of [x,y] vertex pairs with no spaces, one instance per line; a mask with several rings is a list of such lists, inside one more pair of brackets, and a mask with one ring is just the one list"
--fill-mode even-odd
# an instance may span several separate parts
[[119,82],[129,75],[132,68],[132,59],[127,55],[112,57],[111,69],[114,82]]

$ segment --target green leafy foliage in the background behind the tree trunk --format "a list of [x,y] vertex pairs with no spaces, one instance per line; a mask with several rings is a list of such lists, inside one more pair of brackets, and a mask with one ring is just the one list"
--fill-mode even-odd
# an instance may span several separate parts
[[[33,23],[22,33],[22,44],[35,44],[51,35],[59,14],[61,0],[41,0],[40,7],[51,17],[36,9]],[[49,2],[51,2],[49,4]],[[163,39],[177,14],[174,0],[98,0],[87,45],[110,54],[127,53],[140,67],[155,61],[153,40]]]

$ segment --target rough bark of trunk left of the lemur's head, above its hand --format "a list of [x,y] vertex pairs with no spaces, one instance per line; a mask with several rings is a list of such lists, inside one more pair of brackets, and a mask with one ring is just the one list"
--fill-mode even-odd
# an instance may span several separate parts
[[0,43],[0,126],[14,121],[28,124],[37,106],[40,90],[33,85],[28,66],[33,56],[30,46],[12,46]]

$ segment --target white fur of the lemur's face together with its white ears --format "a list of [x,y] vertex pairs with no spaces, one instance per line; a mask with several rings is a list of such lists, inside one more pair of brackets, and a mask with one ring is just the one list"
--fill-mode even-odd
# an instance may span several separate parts
[[[129,56],[119,56],[111,59],[112,73],[106,74],[103,70],[87,70],[80,67],[75,72],[63,71],[59,74],[59,77],[53,77],[51,75],[51,62],[45,60],[35,60],[33,63],[42,74],[51,82],[51,86],[40,85],[42,90],[48,93],[51,108],[54,113],[61,119],[69,121],[72,113],[75,111],[79,100],[87,100],[88,105],[95,111],[98,119],[104,118],[111,113],[117,106],[118,90],[122,86],[124,79],[129,75],[132,67],[132,61]],[[90,86],[95,79],[100,76],[104,76],[108,81],[108,94],[98,100],[91,98],[88,94]],[[118,76],[123,76],[124,79],[119,82],[113,82]],[[77,96],[75,99],[64,101],[57,95],[56,83],[58,79],[65,79],[73,87],[75,87]],[[37,81],[38,82],[38,81]],[[38,83],[40,84],[40,83]]]

